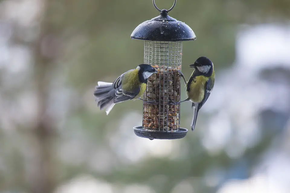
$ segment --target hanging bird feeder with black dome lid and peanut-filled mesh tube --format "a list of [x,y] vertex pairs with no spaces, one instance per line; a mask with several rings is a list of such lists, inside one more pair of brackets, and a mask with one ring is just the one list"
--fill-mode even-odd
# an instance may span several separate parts
[[144,40],[144,64],[156,68],[157,74],[149,79],[144,100],[155,100],[156,104],[143,102],[142,126],[134,127],[134,133],[143,138],[180,139],[187,129],[180,128],[180,101],[182,41],[195,40],[193,30],[184,22],[170,17],[169,9],[160,10],[158,17],[144,21],[131,34],[132,39]]

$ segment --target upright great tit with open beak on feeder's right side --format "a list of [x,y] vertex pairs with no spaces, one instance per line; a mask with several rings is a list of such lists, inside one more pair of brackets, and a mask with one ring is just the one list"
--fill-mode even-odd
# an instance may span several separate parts
[[199,57],[194,64],[189,67],[195,68],[189,80],[186,82],[183,74],[179,71],[185,81],[187,99],[171,104],[179,104],[185,101],[192,102],[193,118],[191,123],[192,131],[195,128],[195,123],[199,109],[208,100],[209,95],[214,87],[214,64],[205,56]]

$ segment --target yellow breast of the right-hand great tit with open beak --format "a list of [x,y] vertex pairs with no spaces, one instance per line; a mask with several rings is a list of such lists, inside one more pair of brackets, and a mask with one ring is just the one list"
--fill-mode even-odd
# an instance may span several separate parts
[[208,81],[208,77],[197,76],[190,84],[190,89],[187,90],[187,96],[193,103],[200,103],[205,96],[205,83]]

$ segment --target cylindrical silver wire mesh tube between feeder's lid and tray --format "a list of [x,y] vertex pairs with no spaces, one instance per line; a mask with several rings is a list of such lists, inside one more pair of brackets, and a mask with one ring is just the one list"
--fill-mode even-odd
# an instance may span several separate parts
[[157,105],[143,103],[143,129],[145,131],[179,132],[180,76],[182,43],[145,41],[144,63],[158,71],[147,83],[144,100],[156,100]]

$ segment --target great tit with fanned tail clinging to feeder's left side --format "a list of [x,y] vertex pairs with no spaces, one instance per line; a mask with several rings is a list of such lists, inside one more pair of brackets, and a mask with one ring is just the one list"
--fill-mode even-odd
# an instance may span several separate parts
[[[140,64],[136,69],[121,74],[113,83],[99,81],[94,92],[98,107],[100,110],[105,108],[108,115],[116,103],[132,99],[143,100],[140,96],[146,90],[147,79],[154,73],[158,73],[158,71],[152,66]],[[143,101],[156,104],[154,100]]]

